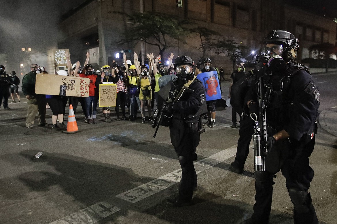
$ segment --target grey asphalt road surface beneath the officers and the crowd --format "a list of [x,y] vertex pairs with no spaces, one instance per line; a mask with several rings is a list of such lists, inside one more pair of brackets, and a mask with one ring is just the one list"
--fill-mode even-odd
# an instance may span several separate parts
[[[337,74],[314,75],[321,94],[320,112],[336,106]],[[228,82],[223,84],[228,92]],[[238,129],[231,109],[219,109],[217,126],[207,128],[197,148],[198,190],[193,206],[171,208],[166,199],[179,187],[180,166],[168,128],[156,138],[150,123],[85,124],[63,134],[49,127],[25,127],[27,104],[0,110],[0,223],[240,223],[254,204],[253,153],[244,175],[228,171],[234,161]],[[81,110],[81,106],[78,107]],[[47,110],[51,122],[51,111]],[[140,115],[140,114],[139,114]],[[319,129],[310,157],[315,171],[310,192],[320,223],[336,223],[336,137]],[[43,156],[32,159],[38,152]],[[277,174],[270,223],[289,224],[293,205],[285,179]]]

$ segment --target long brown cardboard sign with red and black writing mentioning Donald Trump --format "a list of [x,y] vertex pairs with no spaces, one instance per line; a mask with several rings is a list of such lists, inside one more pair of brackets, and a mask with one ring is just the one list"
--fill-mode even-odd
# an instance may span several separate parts
[[35,93],[59,96],[89,96],[89,79],[75,76],[36,74]]

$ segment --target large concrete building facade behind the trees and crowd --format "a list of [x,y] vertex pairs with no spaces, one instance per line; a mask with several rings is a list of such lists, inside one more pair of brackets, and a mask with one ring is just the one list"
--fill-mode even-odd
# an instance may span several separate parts
[[[272,30],[283,29],[299,38],[299,60],[310,56],[309,46],[329,42],[336,43],[336,23],[332,19],[312,14],[302,9],[284,4],[282,0],[184,0],[183,8],[176,7],[170,0],[86,0],[68,12],[59,24],[64,39],[58,48],[69,48],[72,63],[85,60],[85,52],[91,54],[90,63],[100,68],[111,64],[116,52],[130,49],[137,53],[141,45],[119,46],[125,30],[131,26],[126,14],[153,12],[170,15],[177,19],[189,19],[194,26],[204,26],[221,34],[221,38],[231,39],[248,47],[249,52],[258,52],[262,40]],[[194,60],[202,55],[196,46],[200,41],[193,36],[186,37],[186,43],[171,40],[172,47],[164,52],[166,58],[173,52],[175,56],[190,55]],[[158,48],[145,44],[145,52],[159,54]],[[232,72],[232,62],[225,55],[206,52],[213,66],[223,66],[227,74]],[[127,55],[131,58],[131,55]],[[95,68],[96,69],[96,68]]]

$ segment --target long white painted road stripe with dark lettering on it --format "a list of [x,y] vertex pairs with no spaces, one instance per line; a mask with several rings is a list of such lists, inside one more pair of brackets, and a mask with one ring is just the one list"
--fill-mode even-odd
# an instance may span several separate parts
[[[203,160],[194,163],[196,173],[200,173],[206,169],[209,169],[222,161],[225,161],[236,153],[236,145],[224,149],[214,155],[209,156]],[[144,198],[147,198],[161,190],[170,187],[180,181],[181,169],[173,171],[169,174],[161,176],[155,180],[152,180],[146,184],[135,187],[124,193],[116,195],[116,197],[123,200],[129,201],[134,204]],[[92,224],[98,222],[99,220],[106,218],[113,213],[116,213],[124,208],[128,208],[127,205],[114,206],[107,202],[99,202],[92,206],[89,206],[81,211],[75,212],[69,216],[62,219],[54,221],[50,224]]]

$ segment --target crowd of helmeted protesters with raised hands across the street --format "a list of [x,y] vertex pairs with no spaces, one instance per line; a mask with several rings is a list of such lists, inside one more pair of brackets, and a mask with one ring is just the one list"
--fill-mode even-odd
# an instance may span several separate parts
[[[93,65],[89,64],[89,52],[87,52],[86,56],[86,60],[82,67],[79,61],[72,64],[70,54],[66,54],[66,69],[56,71],[55,66],[55,74],[89,78],[90,84],[88,97],[36,94],[36,74],[48,72],[42,66],[37,64],[31,65],[31,71],[22,79],[22,91],[28,102],[26,118],[27,128],[31,129],[34,127],[36,114],[39,115],[39,126],[46,126],[46,108],[50,108],[52,111],[51,128],[53,130],[65,129],[66,125],[64,124],[64,114],[67,103],[68,105],[72,105],[75,115],[78,115],[77,107],[79,102],[85,117],[84,121],[88,124],[96,124],[99,85],[104,83],[114,83],[117,85],[115,107],[116,117],[113,119],[110,116],[110,107],[102,107],[104,122],[110,123],[114,120],[133,121],[138,118],[138,111],[141,113],[142,123],[151,122],[152,112],[156,109],[156,107],[158,108],[160,106],[158,105],[158,92],[160,88],[162,88],[170,80],[176,78],[176,73],[172,63],[174,58],[173,53],[171,53],[167,58],[167,64],[161,63],[161,57],[155,57],[152,53],[146,54],[147,59],[144,64],[140,63],[138,55],[134,53],[132,63],[124,53],[122,65],[118,65],[115,61],[112,61],[112,66],[103,65],[100,70],[97,70],[97,68],[94,68]],[[223,78],[222,67],[219,73],[218,69],[211,66],[211,60],[209,58],[198,58],[198,62],[196,64],[196,74],[208,71],[217,71],[219,82],[221,79],[220,74]],[[20,79],[18,79],[15,74],[16,73],[12,71],[11,76],[9,77],[11,81],[8,84],[8,86],[10,86],[10,96],[12,97],[13,102],[16,102],[14,99],[15,96],[18,98],[18,102],[21,102],[18,94]],[[4,100],[4,107],[8,108],[8,104],[5,103],[7,102]],[[207,103],[209,105],[209,113],[208,116],[205,116],[205,118],[208,118],[209,120],[204,125],[214,127],[216,110],[215,102],[210,101]],[[57,121],[59,122],[58,124]]]

